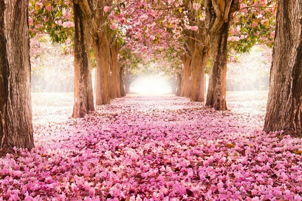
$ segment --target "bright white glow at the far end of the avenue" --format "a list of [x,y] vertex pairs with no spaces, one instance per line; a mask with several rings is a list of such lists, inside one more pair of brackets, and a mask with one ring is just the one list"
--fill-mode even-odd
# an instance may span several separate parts
[[169,82],[161,76],[143,76],[131,83],[130,91],[143,95],[159,95],[171,93]]

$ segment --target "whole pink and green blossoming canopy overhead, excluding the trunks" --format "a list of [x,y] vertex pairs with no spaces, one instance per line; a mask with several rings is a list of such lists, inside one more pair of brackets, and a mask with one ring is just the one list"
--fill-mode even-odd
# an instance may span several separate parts
[[[189,40],[201,40],[198,33],[206,26],[204,1],[109,1],[107,6],[97,9],[104,10],[105,27],[112,34],[114,43],[133,54],[139,52],[144,60],[142,63],[165,64],[160,68],[165,74],[168,71],[177,73],[181,68],[180,58],[171,54],[171,48],[181,56],[182,52],[188,51]],[[233,50],[246,52],[255,44],[271,47],[275,14],[275,0],[241,1],[230,30],[231,58],[235,58]],[[66,42],[66,52],[72,51],[74,29],[68,1],[31,0],[29,22],[32,36],[48,33],[52,41]],[[123,57],[120,58],[124,63]],[[166,65],[168,61],[170,64]],[[94,64],[95,59],[92,59]],[[135,68],[137,66],[133,66]]]

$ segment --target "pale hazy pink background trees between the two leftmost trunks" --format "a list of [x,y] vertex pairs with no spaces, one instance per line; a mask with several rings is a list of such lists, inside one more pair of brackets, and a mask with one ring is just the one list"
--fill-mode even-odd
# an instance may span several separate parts
[[73,51],[68,53],[68,47],[52,43],[50,39],[46,34],[39,34],[30,40],[32,91],[73,92]]

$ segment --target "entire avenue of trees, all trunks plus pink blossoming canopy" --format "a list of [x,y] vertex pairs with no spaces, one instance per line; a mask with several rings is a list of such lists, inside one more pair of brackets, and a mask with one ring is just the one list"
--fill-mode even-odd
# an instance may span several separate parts
[[29,45],[41,33],[72,41],[73,118],[95,110],[92,57],[96,105],[124,96],[139,63],[158,62],[177,95],[225,111],[230,54],[273,46],[264,131],[301,136],[301,22],[302,0],[0,0],[0,152],[34,147]]

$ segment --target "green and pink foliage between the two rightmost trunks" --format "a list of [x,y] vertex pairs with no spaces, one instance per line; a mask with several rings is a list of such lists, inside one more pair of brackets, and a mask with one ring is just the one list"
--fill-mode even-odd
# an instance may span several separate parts
[[273,46],[275,37],[275,0],[242,1],[229,37],[229,47],[236,52],[249,51],[256,44]]

